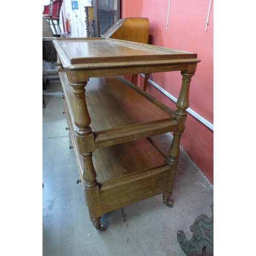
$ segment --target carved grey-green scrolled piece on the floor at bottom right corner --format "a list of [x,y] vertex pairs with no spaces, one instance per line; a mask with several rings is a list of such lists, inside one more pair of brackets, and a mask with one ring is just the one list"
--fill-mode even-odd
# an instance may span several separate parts
[[212,212],[210,218],[200,215],[190,226],[190,231],[193,232],[191,239],[186,239],[182,230],[177,232],[178,242],[186,255],[206,255],[207,247],[211,252],[214,251],[214,202],[211,203],[210,208]]

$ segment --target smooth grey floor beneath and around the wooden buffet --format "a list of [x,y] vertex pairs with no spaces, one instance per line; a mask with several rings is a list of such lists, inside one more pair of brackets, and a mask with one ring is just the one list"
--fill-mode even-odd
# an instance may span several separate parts
[[[171,196],[173,208],[164,205],[162,195],[158,195],[104,215],[101,223],[108,230],[98,231],[90,221],[81,185],[76,184],[78,170],[69,148],[57,77],[49,77],[43,94],[42,255],[184,256],[177,231],[183,230],[190,239],[189,226],[202,214],[210,217],[214,201],[213,188],[197,167],[181,151]],[[172,140],[169,134],[156,139],[168,150]],[[213,254],[206,251],[206,255]]]

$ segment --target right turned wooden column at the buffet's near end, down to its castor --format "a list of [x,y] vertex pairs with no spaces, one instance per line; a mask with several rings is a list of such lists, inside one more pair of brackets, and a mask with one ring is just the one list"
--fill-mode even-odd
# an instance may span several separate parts
[[178,121],[178,129],[174,132],[173,142],[169,149],[169,157],[167,158],[168,165],[170,167],[170,177],[168,181],[168,190],[166,193],[163,194],[163,201],[164,203],[172,207],[173,203],[169,202],[169,197],[172,194],[173,185],[174,185],[174,178],[177,170],[178,165],[178,157],[180,155],[180,139],[181,135],[184,132],[185,124],[186,124],[186,118],[187,118],[187,112],[186,109],[189,106],[189,86],[191,82],[191,77],[194,76],[195,73],[186,73],[181,72],[182,74],[182,86],[180,95],[178,98],[178,101],[176,103],[177,110],[175,112],[176,114],[176,120]]

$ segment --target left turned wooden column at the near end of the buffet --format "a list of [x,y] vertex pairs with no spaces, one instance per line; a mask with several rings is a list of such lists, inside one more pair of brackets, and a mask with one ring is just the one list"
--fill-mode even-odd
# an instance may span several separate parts
[[82,182],[86,189],[88,208],[91,221],[96,228],[100,226],[101,205],[99,196],[99,185],[96,180],[96,172],[93,166],[92,156],[95,151],[94,135],[90,127],[91,118],[86,104],[87,82],[71,83],[75,95],[75,116],[76,139],[79,152],[83,159]]

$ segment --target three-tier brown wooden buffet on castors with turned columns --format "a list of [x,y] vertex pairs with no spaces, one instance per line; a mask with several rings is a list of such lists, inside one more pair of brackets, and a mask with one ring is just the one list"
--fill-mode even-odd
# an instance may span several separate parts
[[[110,38],[56,38],[63,105],[90,219],[163,194],[172,207],[197,54]],[[177,110],[122,75],[181,71]],[[169,155],[150,138],[174,132]]]

